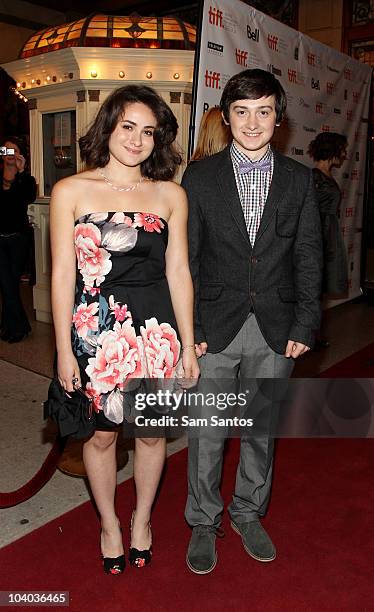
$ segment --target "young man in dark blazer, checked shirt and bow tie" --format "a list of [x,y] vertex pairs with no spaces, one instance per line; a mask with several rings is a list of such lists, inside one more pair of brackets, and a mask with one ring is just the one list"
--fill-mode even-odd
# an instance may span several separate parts
[[[270,147],[285,109],[285,92],[271,73],[233,76],[221,98],[232,144],[191,164],[183,177],[203,380],[287,378],[319,327],[322,247],[312,173]],[[187,565],[199,574],[217,562],[223,447],[223,436],[189,442]],[[276,555],[259,521],[272,460],[268,436],[241,439],[229,513],[245,550],[259,561]]]

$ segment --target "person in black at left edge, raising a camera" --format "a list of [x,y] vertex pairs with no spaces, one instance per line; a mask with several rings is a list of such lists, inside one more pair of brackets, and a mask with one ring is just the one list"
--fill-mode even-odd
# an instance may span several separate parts
[[25,170],[26,157],[18,138],[2,143],[0,185],[1,339],[20,342],[31,331],[20,296],[20,279],[30,248],[27,207],[36,198],[36,182]]

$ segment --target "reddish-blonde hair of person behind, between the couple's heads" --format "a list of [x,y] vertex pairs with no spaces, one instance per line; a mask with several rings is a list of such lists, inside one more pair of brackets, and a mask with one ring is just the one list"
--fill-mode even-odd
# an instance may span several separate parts
[[198,161],[219,153],[231,142],[231,131],[225,125],[217,106],[203,114],[200,122],[197,145],[190,161]]

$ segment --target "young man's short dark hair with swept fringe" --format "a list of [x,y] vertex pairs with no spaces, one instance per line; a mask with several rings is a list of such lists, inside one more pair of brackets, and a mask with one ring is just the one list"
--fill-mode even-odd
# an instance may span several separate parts
[[258,100],[263,96],[275,96],[276,121],[280,123],[287,107],[286,93],[271,72],[254,68],[234,74],[225,85],[221,97],[221,111],[229,122],[230,105],[237,100]]

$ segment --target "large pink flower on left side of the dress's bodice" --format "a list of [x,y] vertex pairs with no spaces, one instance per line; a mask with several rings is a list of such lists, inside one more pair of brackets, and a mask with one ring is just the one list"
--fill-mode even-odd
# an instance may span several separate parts
[[111,256],[100,248],[100,230],[93,223],[79,223],[74,230],[75,251],[78,269],[81,271],[86,288],[98,287],[112,269]]

